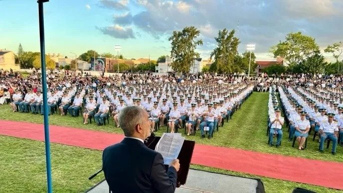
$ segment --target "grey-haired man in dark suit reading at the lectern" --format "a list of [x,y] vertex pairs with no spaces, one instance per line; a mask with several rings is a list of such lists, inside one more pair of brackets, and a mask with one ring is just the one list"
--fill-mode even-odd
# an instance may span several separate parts
[[105,179],[113,193],[173,193],[176,188],[178,160],[168,172],[160,153],[149,149],[144,140],[151,135],[148,113],[128,106],[119,115],[124,140],[107,147],[103,153]]

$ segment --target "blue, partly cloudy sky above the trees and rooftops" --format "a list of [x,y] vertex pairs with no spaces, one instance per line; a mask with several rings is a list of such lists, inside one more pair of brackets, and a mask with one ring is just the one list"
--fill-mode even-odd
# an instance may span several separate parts
[[[200,57],[216,47],[214,37],[235,29],[239,52],[255,43],[257,59],[301,31],[323,50],[343,40],[343,0],[50,0],[44,3],[45,52],[75,57],[89,49],[126,58],[170,55],[172,31],[200,30]],[[0,49],[39,51],[37,0],[0,0]],[[330,54],[325,54],[330,58]]]

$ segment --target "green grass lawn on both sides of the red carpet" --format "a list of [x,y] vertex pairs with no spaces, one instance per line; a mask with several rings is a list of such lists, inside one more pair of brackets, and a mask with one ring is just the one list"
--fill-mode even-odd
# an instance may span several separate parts
[[[312,142],[312,140],[309,140],[306,151],[299,151],[297,148],[292,148],[292,143],[287,141],[288,133],[286,129],[284,129],[282,146],[279,149],[269,147],[267,145],[268,140],[266,136],[267,102],[268,93],[254,93],[242,105],[241,109],[232,116],[232,120],[229,120],[229,123],[226,123],[225,121],[224,127],[220,127],[219,132],[215,133],[211,140],[200,139],[199,132],[196,133],[195,137],[187,136],[186,138],[200,144],[343,162],[342,147],[338,147],[336,156],[330,154],[331,150],[326,150],[324,154],[319,153],[318,143]],[[42,116],[12,113],[8,105],[0,106],[0,118],[3,120],[43,123]],[[113,126],[114,124],[112,121],[110,121],[110,125],[98,127],[94,123],[83,125],[82,117],[73,118],[55,114],[49,116],[49,123],[88,130],[122,133],[120,129]],[[163,132],[166,132],[166,130],[167,128],[163,127],[157,134],[161,135]],[[180,132],[183,134],[184,130],[180,130]],[[13,190],[14,192],[45,192],[46,178],[43,143],[0,136],[0,144],[4,144],[0,149],[0,169],[1,171],[5,171],[3,173],[4,175],[0,175],[0,182],[4,182],[5,184],[5,186],[0,186],[0,193],[13,192]],[[100,181],[100,177],[93,179],[91,182],[87,179],[93,172],[101,168],[100,151],[52,144],[51,155],[54,192],[82,192]],[[192,168],[261,178],[202,166],[192,166]],[[303,185],[270,178],[261,179],[267,192],[292,192],[295,187],[302,187],[316,192],[336,192],[335,190],[317,186]]]

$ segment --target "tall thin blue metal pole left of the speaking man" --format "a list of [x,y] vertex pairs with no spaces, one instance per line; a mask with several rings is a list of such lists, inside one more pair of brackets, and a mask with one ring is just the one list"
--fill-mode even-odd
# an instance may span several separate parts
[[47,193],[52,193],[51,179],[51,158],[50,158],[50,139],[49,139],[49,117],[48,117],[48,102],[46,88],[46,73],[45,73],[45,43],[44,43],[44,17],[43,17],[43,2],[49,0],[37,0],[39,14],[39,40],[40,40],[40,62],[42,65],[42,88],[43,88],[43,109],[44,109],[44,138],[45,138],[45,159],[46,159],[46,180]]

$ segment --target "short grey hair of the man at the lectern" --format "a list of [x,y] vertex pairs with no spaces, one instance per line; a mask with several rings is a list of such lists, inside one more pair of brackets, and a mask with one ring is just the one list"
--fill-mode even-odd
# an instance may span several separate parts
[[138,106],[128,106],[119,113],[119,125],[126,137],[131,137],[135,132],[137,124],[142,122],[144,109]]

